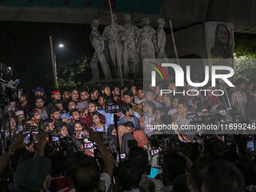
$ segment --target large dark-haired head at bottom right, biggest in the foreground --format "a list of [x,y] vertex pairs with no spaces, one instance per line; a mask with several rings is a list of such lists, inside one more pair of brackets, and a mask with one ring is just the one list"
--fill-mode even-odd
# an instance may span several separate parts
[[217,160],[204,175],[203,187],[206,192],[242,192],[245,179],[233,163]]

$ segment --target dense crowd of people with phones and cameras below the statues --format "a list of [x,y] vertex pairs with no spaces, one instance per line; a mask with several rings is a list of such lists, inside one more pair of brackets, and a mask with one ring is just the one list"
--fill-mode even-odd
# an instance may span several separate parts
[[74,87],[53,90],[48,103],[43,87],[32,90],[33,100],[23,90],[5,108],[0,191],[256,191],[253,135],[151,129],[256,123],[255,82],[234,84],[218,81],[224,96],[210,83]]

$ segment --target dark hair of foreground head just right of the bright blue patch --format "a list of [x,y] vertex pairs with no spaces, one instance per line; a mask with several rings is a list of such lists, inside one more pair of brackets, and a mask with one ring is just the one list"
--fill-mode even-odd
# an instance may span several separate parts
[[174,181],[178,175],[186,173],[187,160],[176,152],[169,152],[163,156],[162,169],[169,181]]

